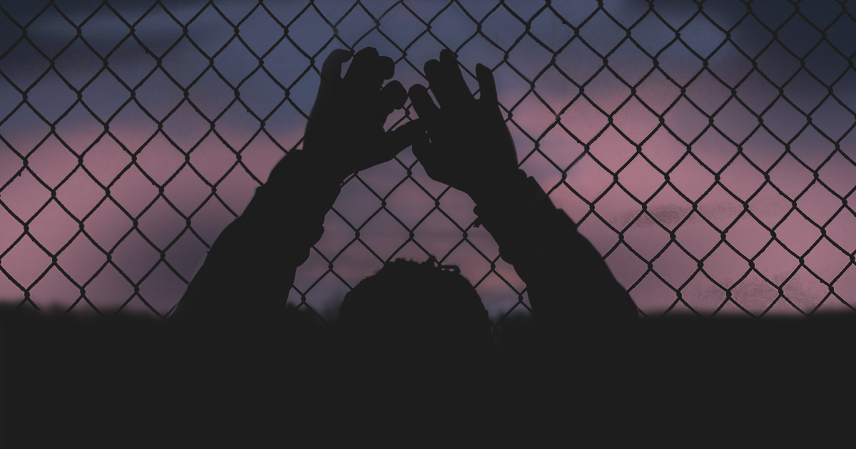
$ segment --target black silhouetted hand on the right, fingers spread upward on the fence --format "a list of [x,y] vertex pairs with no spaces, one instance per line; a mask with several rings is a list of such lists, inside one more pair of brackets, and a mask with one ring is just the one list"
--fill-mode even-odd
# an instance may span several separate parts
[[440,61],[425,62],[425,78],[440,107],[425,86],[410,88],[413,108],[428,139],[413,143],[413,154],[431,179],[477,199],[518,173],[517,151],[496,101],[490,69],[476,66],[479,99],[473,97],[450,50]]

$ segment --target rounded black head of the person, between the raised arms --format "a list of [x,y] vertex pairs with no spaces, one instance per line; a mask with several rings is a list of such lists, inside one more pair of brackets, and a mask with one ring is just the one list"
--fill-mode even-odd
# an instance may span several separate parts
[[397,259],[345,295],[336,323],[347,357],[459,363],[492,351],[487,310],[458,267]]

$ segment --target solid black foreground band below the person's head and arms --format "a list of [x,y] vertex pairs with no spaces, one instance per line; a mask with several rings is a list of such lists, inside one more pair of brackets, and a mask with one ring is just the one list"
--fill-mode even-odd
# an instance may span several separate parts
[[3,447],[766,446],[856,417],[853,317],[641,322],[561,346],[519,321],[502,355],[448,366],[344,363],[305,318],[175,328],[2,310]]

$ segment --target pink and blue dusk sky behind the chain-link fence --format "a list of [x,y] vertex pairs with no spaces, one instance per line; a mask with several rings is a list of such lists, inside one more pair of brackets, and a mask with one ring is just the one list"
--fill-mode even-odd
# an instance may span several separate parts
[[[603,5],[0,1],[0,300],[163,315],[300,148],[330,50],[374,46],[406,87],[425,84],[422,65],[445,47],[469,72],[493,69],[521,168],[643,316],[856,306],[852,13],[832,1],[755,1],[752,14],[725,1],[704,14],[688,1]],[[432,254],[461,266],[494,319],[524,310],[524,284],[502,260],[491,272],[496,243],[474,219],[407,149],[342,188],[289,301],[305,294],[333,319],[383,261]]]

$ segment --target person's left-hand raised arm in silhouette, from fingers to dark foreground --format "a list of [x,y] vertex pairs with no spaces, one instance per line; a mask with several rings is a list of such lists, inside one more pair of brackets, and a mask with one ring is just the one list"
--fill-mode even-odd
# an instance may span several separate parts
[[285,310],[294,273],[324,233],[324,216],[350,174],[391,160],[410,145],[416,124],[384,133],[407,92],[389,57],[360,50],[342,78],[346,50],[333,50],[303,151],[291,151],[259,186],[247,210],[217,237],[205,263],[171,311],[171,320],[234,322],[277,316]]

